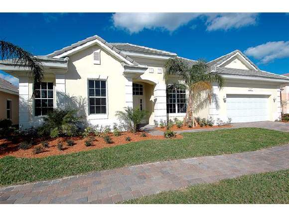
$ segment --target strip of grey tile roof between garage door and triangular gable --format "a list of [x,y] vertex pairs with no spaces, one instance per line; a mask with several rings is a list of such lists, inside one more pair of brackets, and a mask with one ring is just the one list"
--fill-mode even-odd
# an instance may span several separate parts
[[284,79],[284,80],[288,80],[289,82],[289,77],[286,77],[284,75],[277,75],[277,74],[262,71],[262,70],[246,70],[246,69],[232,69],[232,68],[226,68],[226,67],[216,67],[216,72],[221,73],[221,74],[258,76],[258,77]]

